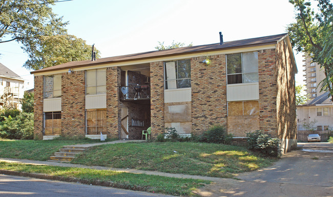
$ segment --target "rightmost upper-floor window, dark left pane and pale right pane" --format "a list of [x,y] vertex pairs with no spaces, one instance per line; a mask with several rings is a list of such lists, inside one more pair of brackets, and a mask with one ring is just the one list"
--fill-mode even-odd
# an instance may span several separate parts
[[226,55],[227,84],[258,82],[258,52]]

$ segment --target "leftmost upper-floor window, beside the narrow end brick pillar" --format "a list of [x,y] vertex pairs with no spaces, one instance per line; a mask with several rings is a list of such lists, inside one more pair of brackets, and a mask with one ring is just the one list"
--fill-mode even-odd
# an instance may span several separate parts
[[61,97],[61,74],[44,76],[44,98]]

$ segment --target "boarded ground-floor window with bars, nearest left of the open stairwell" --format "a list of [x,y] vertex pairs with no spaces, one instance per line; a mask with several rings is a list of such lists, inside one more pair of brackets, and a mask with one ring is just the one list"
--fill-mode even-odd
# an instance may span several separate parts
[[100,132],[106,134],[107,110],[94,109],[86,111],[87,135],[98,135]]

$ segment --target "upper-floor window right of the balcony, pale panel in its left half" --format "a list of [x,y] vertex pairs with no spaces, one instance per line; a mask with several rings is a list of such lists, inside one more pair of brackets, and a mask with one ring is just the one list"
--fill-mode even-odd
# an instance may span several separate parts
[[191,87],[191,60],[183,59],[164,63],[165,90]]

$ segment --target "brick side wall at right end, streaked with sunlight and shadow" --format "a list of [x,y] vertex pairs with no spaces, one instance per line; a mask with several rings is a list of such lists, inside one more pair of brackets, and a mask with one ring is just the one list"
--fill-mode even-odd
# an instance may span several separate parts
[[277,135],[284,152],[297,146],[295,71],[285,40],[277,45]]

